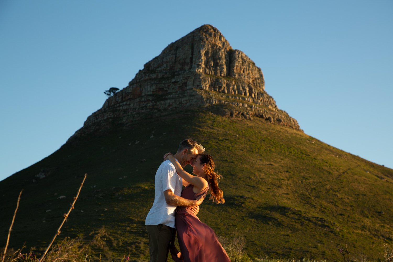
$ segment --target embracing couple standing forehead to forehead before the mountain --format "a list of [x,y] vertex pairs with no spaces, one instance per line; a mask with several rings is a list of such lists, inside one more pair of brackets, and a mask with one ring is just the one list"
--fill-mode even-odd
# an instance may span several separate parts
[[[145,223],[151,262],[167,261],[169,249],[176,262],[230,261],[213,229],[196,216],[208,192],[214,202],[225,202],[214,160],[204,151],[202,145],[185,139],[176,154],[165,154],[156,172],[156,195]],[[193,167],[195,175],[183,169],[187,164]],[[181,253],[174,246],[176,231]]]

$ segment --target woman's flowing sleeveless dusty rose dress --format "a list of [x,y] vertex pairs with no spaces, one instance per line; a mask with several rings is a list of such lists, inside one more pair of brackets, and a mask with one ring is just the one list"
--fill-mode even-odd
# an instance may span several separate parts
[[[196,200],[206,194],[209,188],[195,194],[193,185],[188,185],[182,191],[182,197]],[[185,262],[226,262],[231,261],[217,240],[217,235],[208,225],[200,222],[191,212],[190,207],[176,208],[176,231],[180,252]]]

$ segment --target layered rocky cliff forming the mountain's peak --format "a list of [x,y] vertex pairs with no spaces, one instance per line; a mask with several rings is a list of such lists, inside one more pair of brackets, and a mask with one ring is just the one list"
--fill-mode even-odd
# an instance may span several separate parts
[[232,49],[219,30],[204,25],[147,62],[127,87],[87,118],[73,137],[179,110],[212,108],[218,114],[262,117],[300,130],[298,122],[279,110],[264,90],[261,69],[242,51]]

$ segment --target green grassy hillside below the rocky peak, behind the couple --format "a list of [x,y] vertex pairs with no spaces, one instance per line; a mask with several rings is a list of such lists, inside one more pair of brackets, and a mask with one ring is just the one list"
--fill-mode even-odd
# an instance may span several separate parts
[[0,246],[20,189],[10,245],[42,249],[88,173],[59,238],[90,241],[101,229],[107,247],[94,246],[96,254],[147,260],[154,174],[187,137],[207,148],[223,175],[226,203],[206,200],[198,216],[219,236],[243,236],[250,257],[338,260],[337,248],[348,244],[354,256],[377,259],[382,244],[393,243],[393,170],[261,119],[193,112],[75,140],[2,181]]

